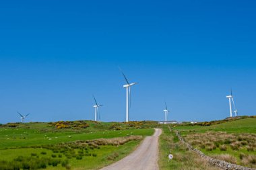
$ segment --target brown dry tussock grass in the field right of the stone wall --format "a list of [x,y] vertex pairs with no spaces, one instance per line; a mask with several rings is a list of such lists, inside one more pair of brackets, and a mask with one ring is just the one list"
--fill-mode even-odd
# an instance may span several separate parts
[[[194,133],[185,136],[185,140],[192,146],[199,146],[205,149],[205,151],[213,151],[215,148],[220,148],[220,151],[236,153],[243,149],[240,151],[238,158],[234,157],[232,153],[213,155],[211,157],[227,161],[228,163],[256,168],[256,134],[227,134],[226,132]],[[245,150],[253,154],[250,155]],[[216,152],[218,153],[218,151]]]

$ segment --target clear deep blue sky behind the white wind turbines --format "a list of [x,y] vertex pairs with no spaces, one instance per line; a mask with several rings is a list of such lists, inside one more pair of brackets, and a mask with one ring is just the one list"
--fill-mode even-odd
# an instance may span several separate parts
[[255,115],[255,1],[1,1],[0,123]]

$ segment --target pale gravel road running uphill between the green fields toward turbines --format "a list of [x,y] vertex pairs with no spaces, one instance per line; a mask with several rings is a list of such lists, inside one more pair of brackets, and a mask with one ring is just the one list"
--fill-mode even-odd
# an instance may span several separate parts
[[161,129],[155,129],[153,136],[147,136],[139,147],[127,157],[100,170],[157,170],[158,137]]

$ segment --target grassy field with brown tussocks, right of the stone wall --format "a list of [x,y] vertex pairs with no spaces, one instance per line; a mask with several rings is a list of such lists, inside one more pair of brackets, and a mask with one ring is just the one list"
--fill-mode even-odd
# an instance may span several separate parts
[[203,124],[172,125],[186,142],[210,157],[256,168],[256,118],[255,116],[228,118]]

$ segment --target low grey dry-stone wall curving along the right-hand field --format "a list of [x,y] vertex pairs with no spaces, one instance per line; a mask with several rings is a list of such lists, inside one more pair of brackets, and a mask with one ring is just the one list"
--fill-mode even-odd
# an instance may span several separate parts
[[[169,130],[171,130],[170,127],[169,127]],[[185,140],[183,139],[183,137],[181,136],[179,131],[174,130],[174,132],[178,136],[179,140],[181,140],[181,142],[183,142],[185,144],[185,146],[187,146],[187,148],[189,148],[189,151],[193,151],[193,152],[197,153],[197,155],[199,155],[203,159],[206,159],[207,162],[210,163],[211,165],[214,165],[216,167],[220,167],[220,168],[226,169],[226,170],[255,170],[253,168],[243,167],[243,166],[236,165],[233,163],[228,163],[226,161],[222,161],[219,159],[213,159],[212,157],[209,157],[209,156],[205,155],[204,153],[202,153],[201,151],[199,151],[197,148],[193,148],[193,146],[191,146],[191,144],[185,142]]]

